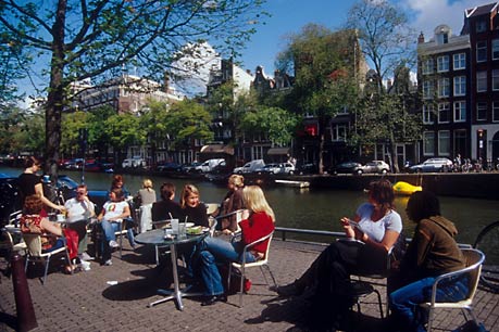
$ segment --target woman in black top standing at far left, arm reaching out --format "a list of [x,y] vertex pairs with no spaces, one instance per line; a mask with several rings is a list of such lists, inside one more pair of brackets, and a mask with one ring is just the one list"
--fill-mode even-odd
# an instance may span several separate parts
[[43,203],[43,209],[40,212],[40,215],[46,217],[47,209],[46,206],[53,209],[62,212],[64,209],[63,205],[58,205],[50,202],[43,194],[43,184],[41,183],[40,177],[37,175],[37,171],[40,170],[41,164],[36,157],[30,156],[24,161],[24,173],[21,174],[17,178],[17,184],[21,191],[22,206],[24,206],[24,201],[27,196],[38,195]]

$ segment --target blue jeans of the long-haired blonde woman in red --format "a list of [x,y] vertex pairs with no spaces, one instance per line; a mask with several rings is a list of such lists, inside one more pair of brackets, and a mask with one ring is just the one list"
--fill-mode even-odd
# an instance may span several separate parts
[[[199,244],[199,267],[201,279],[204,283],[204,295],[220,295],[224,293],[222,277],[216,264],[228,264],[230,261],[242,261],[241,242],[230,243],[221,239],[205,238]],[[246,263],[255,261],[251,253],[246,253]]]

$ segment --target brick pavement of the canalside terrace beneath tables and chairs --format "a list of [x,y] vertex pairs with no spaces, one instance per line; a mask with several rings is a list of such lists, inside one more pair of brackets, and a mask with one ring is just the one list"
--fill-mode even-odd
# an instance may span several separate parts
[[[271,269],[280,284],[300,276],[322,251],[321,245],[274,240]],[[0,259],[1,260],[1,259]],[[125,250],[123,259],[114,253],[113,266],[91,264],[91,270],[66,276],[57,269],[46,285],[36,273],[28,272],[28,284],[37,316],[35,331],[300,331],[307,312],[302,297],[283,299],[263,285],[259,269],[250,269],[253,282],[250,294],[244,296],[244,307],[237,307],[238,296],[228,303],[201,307],[199,298],[184,298],[184,311],[166,302],[152,308],[147,305],[161,298],[158,288],[170,279],[169,270],[154,269],[152,251],[140,247]],[[0,269],[4,261],[0,261]],[[15,301],[12,280],[0,274],[0,331],[15,330]],[[108,281],[117,281],[109,285]],[[384,294],[384,288],[381,288]],[[479,290],[475,297],[478,319],[489,331],[499,331],[499,295]],[[355,317],[358,331],[382,331],[377,299],[362,299],[362,315]],[[437,311],[438,331],[456,329],[464,322],[459,310]]]

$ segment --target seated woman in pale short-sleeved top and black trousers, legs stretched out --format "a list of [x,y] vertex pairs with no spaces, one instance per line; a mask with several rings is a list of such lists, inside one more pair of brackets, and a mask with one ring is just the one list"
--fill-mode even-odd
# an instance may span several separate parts
[[312,321],[326,328],[338,322],[352,302],[350,274],[386,270],[388,251],[402,231],[402,220],[394,209],[394,189],[388,180],[371,182],[369,202],[359,206],[353,220],[347,217],[340,220],[346,235],[362,241],[364,245],[333,242],[299,279],[277,288],[277,293],[292,296],[313,289],[312,306],[316,310],[312,312]]

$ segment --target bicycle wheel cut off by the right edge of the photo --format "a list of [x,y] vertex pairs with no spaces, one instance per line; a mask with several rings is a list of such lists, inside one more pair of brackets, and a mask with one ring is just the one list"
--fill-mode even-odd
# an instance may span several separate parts
[[476,237],[473,247],[485,254],[482,284],[499,293],[499,221],[486,226]]

